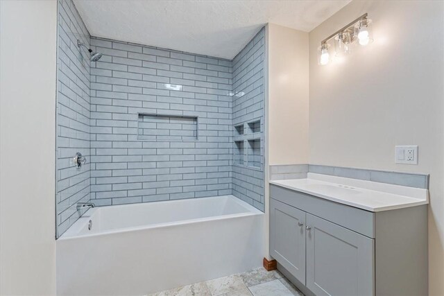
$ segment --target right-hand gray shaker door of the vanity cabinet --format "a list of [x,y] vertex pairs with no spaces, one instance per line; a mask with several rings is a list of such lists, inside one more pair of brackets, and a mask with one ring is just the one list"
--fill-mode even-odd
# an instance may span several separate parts
[[307,214],[307,288],[316,295],[374,295],[374,241]]

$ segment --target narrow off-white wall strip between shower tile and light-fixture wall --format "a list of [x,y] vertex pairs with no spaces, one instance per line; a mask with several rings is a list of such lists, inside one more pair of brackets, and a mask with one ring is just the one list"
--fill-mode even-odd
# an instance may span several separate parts
[[307,164],[308,33],[268,24],[270,165]]

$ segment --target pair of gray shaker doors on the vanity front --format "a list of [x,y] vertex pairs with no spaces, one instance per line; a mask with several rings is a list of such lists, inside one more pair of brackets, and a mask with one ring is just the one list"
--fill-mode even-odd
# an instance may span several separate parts
[[270,200],[270,254],[316,295],[374,295],[374,240]]

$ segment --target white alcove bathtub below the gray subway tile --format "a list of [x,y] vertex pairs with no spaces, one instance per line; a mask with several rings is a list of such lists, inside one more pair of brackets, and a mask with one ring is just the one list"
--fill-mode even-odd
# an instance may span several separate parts
[[58,295],[144,295],[261,266],[264,214],[232,195],[96,207],[56,250]]

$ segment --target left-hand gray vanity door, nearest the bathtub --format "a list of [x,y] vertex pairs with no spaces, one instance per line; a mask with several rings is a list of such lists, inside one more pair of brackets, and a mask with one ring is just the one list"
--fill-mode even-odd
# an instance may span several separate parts
[[270,200],[270,254],[305,284],[305,211]]

